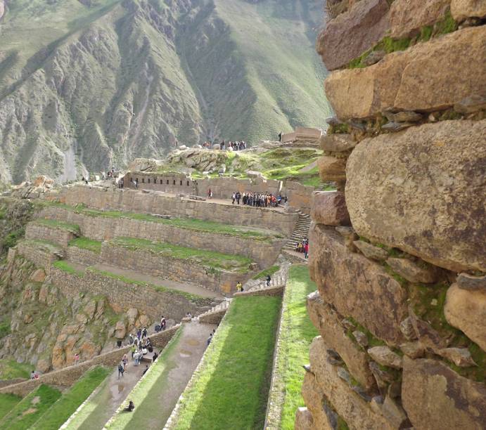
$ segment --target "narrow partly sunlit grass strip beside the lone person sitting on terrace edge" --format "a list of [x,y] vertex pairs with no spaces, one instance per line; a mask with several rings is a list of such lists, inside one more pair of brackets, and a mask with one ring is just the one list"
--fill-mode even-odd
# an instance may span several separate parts
[[[151,417],[154,410],[159,409],[160,412],[160,408],[163,408],[163,405],[158,405],[157,402],[160,398],[160,394],[163,393],[164,390],[170,389],[170,382],[167,381],[167,374],[175,365],[177,365],[174,363],[174,359],[177,361],[177,357],[173,356],[174,348],[176,348],[179,338],[185,329],[186,326],[183,325],[177,330],[174,337],[170,339],[169,344],[162,350],[162,353],[157,361],[155,361],[155,364],[150,367],[146,376],[134,386],[132,391],[130,391],[127,396],[127,401],[124,403],[128,404],[128,400],[132,400],[136,405],[134,412],[129,414],[122,410],[118,411],[113,415],[113,419],[110,419],[110,422],[106,425],[107,429],[127,429],[136,426],[150,428],[141,423],[144,423],[144,420],[147,419],[147,417]],[[167,414],[170,414],[170,412],[167,412]],[[160,424],[163,423],[161,422]]]

